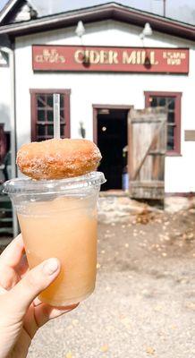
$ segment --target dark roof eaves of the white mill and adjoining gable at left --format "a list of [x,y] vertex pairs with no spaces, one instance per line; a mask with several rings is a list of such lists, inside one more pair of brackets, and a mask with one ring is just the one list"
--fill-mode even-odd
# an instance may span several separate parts
[[[5,6],[4,11],[0,13],[0,20],[1,16],[5,18],[9,11],[11,11],[12,4],[16,6],[17,3],[19,3],[19,0],[10,0]],[[193,25],[165,18],[157,14],[143,12],[117,3],[100,4],[65,13],[42,16],[35,20],[5,24],[0,26],[0,34],[17,37],[75,26],[80,20],[84,23],[114,20],[140,27],[143,27],[146,22],[149,22],[153,30],[179,38],[195,40],[195,26]]]

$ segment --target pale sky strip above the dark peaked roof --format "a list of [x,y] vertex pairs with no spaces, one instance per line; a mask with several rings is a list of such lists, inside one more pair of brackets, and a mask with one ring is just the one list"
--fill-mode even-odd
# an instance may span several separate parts
[[[75,8],[91,6],[93,4],[109,3],[109,0],[29,0],[31,4],[38,4],[43,9],[50,7],[51,12],[63,12]],[[117,3],[129,5],[151,13],[163,14],[163,0],[115,0]],[[0,0],[0,10],[7,0]],[[180,21],[195,24],[195,0],[166,0],[166,16]]]

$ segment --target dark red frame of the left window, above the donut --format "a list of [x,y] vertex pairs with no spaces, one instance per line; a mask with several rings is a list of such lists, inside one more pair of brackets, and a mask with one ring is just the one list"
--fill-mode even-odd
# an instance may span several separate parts
[[65,138],[71,136],[71,112],[70,112],[70,97],[71,90],[59,89],[30,89],[30,116],[31,116],[31,141],[37,141],[36,125],[37,125],[37,106],[36,95],[38,94],[54,94],[59,93],[64,95],[64,118],[65,118]]

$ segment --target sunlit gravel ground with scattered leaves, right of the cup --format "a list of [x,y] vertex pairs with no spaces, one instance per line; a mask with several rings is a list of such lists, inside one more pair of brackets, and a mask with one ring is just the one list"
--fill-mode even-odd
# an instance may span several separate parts
[[97,289],[28,358],[194,358],[195,210],[99,225]]

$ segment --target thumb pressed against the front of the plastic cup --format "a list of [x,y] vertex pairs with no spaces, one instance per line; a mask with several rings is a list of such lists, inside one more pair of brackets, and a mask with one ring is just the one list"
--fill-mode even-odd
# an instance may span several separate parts
[[13,310],[25,314],[30,303],[55,280],[59,272],[60,262],[57,259],[45,260],[32,268],[8,293]]

